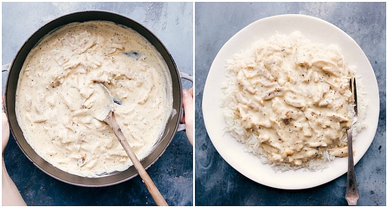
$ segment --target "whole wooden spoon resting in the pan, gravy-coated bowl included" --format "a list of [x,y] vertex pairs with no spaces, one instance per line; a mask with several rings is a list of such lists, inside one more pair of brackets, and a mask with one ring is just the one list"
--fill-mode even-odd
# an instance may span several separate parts
[[[125,152],[129,156],[129,159],[132,161],[133,166],[139,173],[140,177],[143,179],[144,183],[146,184],[146,187],[148,191],[151,193],[152,198],[154,199],[156,205],[158,206],[168,206],[166,201],[164,200],[162,194],[159,192],[158,188],[156,188],[154,182],[149,177],[148,173],[144,169],[143,165],[140,163],[139,159],[135,155],[134,151],[132,150],[131,146],[128,143],[128,140],[124,136],[123,132],[121,131],[116,119],[114,118],[114,108],[113,108],[113,97],[111,92],[108,90],[107,87],[105,87],[101,82],[95,82],[97,84],[96,90],[98,92],[103,93],[100,97],[101,99],[97,100],[94,106],[95,111],[95,118],[99,121],[103,121],[106,124],[108,124],[113,132],[114,135],[116,135],[117,139],[120,141],[121,145],[123,146]],[[131,138],[129,138],[131,139]]]

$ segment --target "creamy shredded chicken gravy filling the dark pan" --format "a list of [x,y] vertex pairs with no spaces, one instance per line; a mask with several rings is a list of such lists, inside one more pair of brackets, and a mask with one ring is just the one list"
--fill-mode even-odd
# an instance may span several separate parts
[[53,166],[98,177],[132,165],[93,105],[113,97],[116,120],[139,159],[160,139],[172,112],[171,77],[161,54],[134,30],[108,21],[71,23],[28,55],[16,90],[16,117],[35,152]]

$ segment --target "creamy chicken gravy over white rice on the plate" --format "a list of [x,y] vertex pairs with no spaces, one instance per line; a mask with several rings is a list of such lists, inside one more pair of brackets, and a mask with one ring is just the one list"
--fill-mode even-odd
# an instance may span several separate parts
[[226,67],[227,131],[247,151],[276,170],[316,170],[347,156],[355,67],[336,45],[313,43],[300,32],[276,34],[234,55]]

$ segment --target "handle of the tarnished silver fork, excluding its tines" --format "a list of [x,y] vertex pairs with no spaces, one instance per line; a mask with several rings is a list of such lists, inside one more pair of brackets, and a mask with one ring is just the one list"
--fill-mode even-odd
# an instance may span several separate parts
[[348,134],[348,182],[346,186],[345,198],[348,201],[348,205],[357,205],[357,200],[359,198],[357,183],[356,183],[356,174],[355,174],[355,165],[353,160],[353,137],[352,137],[352,128],[347,130]]

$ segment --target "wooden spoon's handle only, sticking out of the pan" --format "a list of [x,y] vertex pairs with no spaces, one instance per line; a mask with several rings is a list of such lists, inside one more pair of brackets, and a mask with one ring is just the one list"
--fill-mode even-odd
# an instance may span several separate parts
[[128,143],[128,140],[124,136],[120,127],[117,124],[116,119],[114,118],[114,113],[111,112],[107,118],[104,120],[112,129],[117,139],[120,141],[121,145],[124,147],[124,150],[127,152],[129,159],[132,161],[133,166],[139,173],[140,177],[143,179],[148,191],[151,193],[152,198],[154,199],[156,205],[158,206],[168,206],[167,202],[164,200],[162,194],[156,188],[154,182],[149,177],[148,173],[144,169],[143,165],[140,163],[135,152],[133,152],[131,146]]

